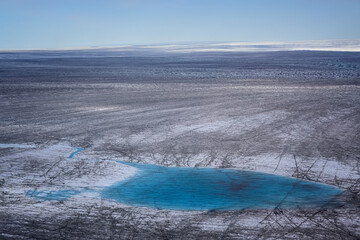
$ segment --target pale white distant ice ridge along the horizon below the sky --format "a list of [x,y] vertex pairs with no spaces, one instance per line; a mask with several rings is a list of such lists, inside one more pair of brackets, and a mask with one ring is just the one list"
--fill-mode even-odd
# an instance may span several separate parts
[[[93,50],[131,52],[265,52],[265,51],[346,51],[360,52],[360,39],[337,40],[304,40],[304,41],[258,41],[258,42],[192,42],[176,44],[149,44],[149,45],[108,45],[81,48],[62,49],[14,49],[5,52],[21,50]],[[2,50],[0,49],[0,52]]]

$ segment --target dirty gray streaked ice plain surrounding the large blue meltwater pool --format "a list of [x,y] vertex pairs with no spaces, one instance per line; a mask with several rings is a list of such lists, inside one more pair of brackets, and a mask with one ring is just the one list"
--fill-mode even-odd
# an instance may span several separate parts
[[[0,238],[359,239],[360,53],[225,50],[1,52]],[[104,197],[136,164],[342,194],[195,210]]]

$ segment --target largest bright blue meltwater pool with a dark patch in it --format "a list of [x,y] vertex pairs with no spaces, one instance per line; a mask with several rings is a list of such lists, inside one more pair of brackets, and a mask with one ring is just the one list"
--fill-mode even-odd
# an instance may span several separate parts
[[101,191],[106,199],[158,209],[232,210],[336,206],[340,189],[250,171],[126,163],[138,173]]

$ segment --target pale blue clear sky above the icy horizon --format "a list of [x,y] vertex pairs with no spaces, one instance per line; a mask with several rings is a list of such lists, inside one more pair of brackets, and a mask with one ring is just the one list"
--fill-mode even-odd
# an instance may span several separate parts
[[360,0],[0,0],[0,49],[360,39]]

